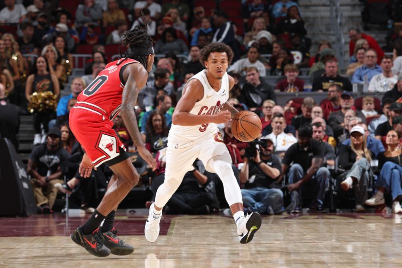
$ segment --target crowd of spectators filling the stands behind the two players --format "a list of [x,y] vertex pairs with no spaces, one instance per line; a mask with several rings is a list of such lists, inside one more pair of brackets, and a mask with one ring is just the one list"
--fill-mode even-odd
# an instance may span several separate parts
[[[336,187],[341,196],[354,191],[349,196],[356,212],[369,206],[382,209],[385,203],[392,212],[402,212],[399,39],[394,41],[394,55],[384,55],[374,38],[350,29],[350,62],[340,70],[334,44],[328,40],[322,40],[310,56],[309,29],[297,1],[241,1],[236,15],[240,23],[229,10],[206,9],[193,1],[72,2],[75,7],[45,0],[0,4],[0,23],[5,26],[0,28],[0,130],[18,149],[19,120],[10,119],[32,110],[35,147],[27,169],[39,211],[52,212],[58,191],[75,194],[73,200],[86,212],[96,206],[94,192],[106,186],[111,171],[98,168],[89,179],[76,172],[83,151],[69,130],[68,113],[112,55],[124,52],[119,46],[121,34],[138,25],[155,40],[157,60],[139,92],[135,112],[143,142],[158,168],[152,172],[144,167],[120,116],[114,129],[143,177],[139,186],[150,186],[155,193],[163,182],[174,107],[187,80],[204,69],[200,49],[224,42],[234,51],[228,68],[235,78],[229,102],[239,111],[255,112],[262,123],[258,141],[250,144],[234,138],[231,122],[219,126],[242,187],[245,210],[299,213],[304,206],[326,212],[328,190]],[[77,76],[73,54],[88,46],[92,56]],[[382,100],[355,99],[355,85],[384,94]],[[28,109],[34,105],[33,95],[44,92],[57,96],[57,108]],[[305,99],[289,95],[280,106],[278,92],[325,92],[328,97],[319,103],[314,93]],[[217,175],[200,161],[193,166],[167,212],[208,214],[227,206]]]

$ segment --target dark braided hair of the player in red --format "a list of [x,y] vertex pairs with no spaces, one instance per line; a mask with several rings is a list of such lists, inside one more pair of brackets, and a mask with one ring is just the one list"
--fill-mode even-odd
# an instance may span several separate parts
[[[142,12],[141,16],[145,25],[148,25],[148,22],[145,20],[144,14]],[[140,26],[137,25],[136,27],[134,27],[134,29],[124,32],[122,35],[122,39],[122,46],[127,47],[128,49],[126,50],[124,56],[122,56],[119,47],[120,55],[124,59],[120,61],[117,65],[130,58],[139,61],[144,66],[144,68],[147,69],[148,55],[135,55],[136,50],[149,49],[155,43],[155,41],[148,35],[147,29],[145,28],[145,30],[143,30],[140,28]]]

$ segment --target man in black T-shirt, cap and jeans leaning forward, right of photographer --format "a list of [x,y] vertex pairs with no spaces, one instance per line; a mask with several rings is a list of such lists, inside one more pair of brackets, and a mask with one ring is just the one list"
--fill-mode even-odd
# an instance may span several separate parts
[[[322,142],[313,139],[313,128],[305,124],[299,128],[297,143],[290,146],[282,159],[282,173],[288,173],[289,192],[297,191],[302,197],[303,189],[318,189],[315,199],[310,205],[311,211],[326,212],[324,209],[324,195],[328,188],[330,171],[322,167],[325,156],[325,146]],[[290,166],[290,164],[293,164]],[[289,169],[290,167],[290,169]],[[290,213],[300,212],[300,203],[297,195],[291,193],[296,207]]]

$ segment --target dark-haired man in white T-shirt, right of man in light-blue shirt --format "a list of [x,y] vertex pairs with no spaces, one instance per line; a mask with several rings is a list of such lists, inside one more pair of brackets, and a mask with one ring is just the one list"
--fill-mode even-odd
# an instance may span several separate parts
[[392,90],[397,82],[397,76],[392,74],[392,56],[385,55],[381,60],[382,73],[376,74],[368,84],[369,92],[387,92]]

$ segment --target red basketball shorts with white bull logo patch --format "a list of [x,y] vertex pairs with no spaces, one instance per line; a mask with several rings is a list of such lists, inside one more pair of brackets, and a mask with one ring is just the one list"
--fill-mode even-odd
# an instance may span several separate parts
[[95,167],[103,163],[111,166],[129,157],[107,116],[74,106],[70,110],[69,125]]

